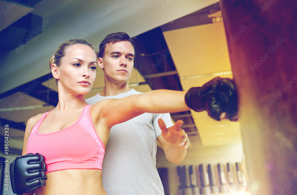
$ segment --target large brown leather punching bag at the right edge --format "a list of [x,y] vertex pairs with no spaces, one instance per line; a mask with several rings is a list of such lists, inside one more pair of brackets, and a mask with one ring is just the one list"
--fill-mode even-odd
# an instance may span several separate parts
[[297,1],[224,0],[253,195],[297,194]]

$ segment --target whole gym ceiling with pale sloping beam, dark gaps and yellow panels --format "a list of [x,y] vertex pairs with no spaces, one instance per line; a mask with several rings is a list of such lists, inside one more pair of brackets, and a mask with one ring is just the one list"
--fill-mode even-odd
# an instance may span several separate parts
[[[5,2],[7,6],[7,1],[0,0],[3,9]],[[84,38],[98,47],[107,34],[127,32],[136,42],[135,66],[129,84],[140,92],[188,90],[216,76],[232,78],[228,49],[224,48],[224,25],[216,1],[114,2],[119,4],[43,0],[24,8],[23,15],[31,8],[31,14],[41,16],[45,26],[19,52],[16,48],[21,44],[14,49],[1,49],[0,59],[4,63],[0,65],[0,81],[5,84],[0,87],[0,122],[1,126],[10,124],[10,146],[15,148],[12,152],[21,152],[26,121],[56,106],[57,87],[49,74],[48,59],[61,42],[70,38]],[[11,23],[9,28],[19,19],[19,16],[8,19],[5,16],[0,25]],[[48,24],[44,23],[46,20]],[[7,40],[10,39],[15,40],[13,34],[8,36]],[[103,73],[97,68],[95,84],[86,98],[103,87]],[[199,137],[203,146],[222,145],[239,131],[238,122],[217,122],[206,112],[188,111],[171,116],[174,121],[183,120],[183,129],[188,135]]]

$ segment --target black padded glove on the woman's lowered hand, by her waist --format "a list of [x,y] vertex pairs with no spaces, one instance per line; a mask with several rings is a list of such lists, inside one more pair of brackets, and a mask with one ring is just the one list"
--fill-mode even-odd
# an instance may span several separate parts
[[45,157],[41,154],[26,154],[10,164],[10,180],[14,194],[23,194],[45,186],[47,179]]

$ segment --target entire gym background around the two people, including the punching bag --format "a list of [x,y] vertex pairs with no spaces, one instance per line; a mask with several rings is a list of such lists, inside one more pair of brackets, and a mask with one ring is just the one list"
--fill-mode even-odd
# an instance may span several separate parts
[[[170,113],[173,122],[184,122],[190,146],[177,165],[158,147],[156,167],[166,195],[296,194],[297,4],[238,4],[0,0],[1,194],[13,194],[5,189],[5,162],[22,154],[26,122],[58,103],[48,67],[55,49],[75,38],[98,48],[119,31],[135,41],[129,87],[137,91],[186,91],[217,76],[234,79],[238,87],[237,122],[216,121],[206,111]],[[97,68],[85,97],[103,87]]]

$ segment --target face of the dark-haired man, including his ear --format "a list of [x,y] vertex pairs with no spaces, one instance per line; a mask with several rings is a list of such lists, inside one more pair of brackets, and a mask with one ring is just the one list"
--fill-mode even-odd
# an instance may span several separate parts
[[132,74],[134,56],[134,48],[129,41],[107,44],[104,57],[98,58],[99,68],[104,70],[105,82],[127,82]]

